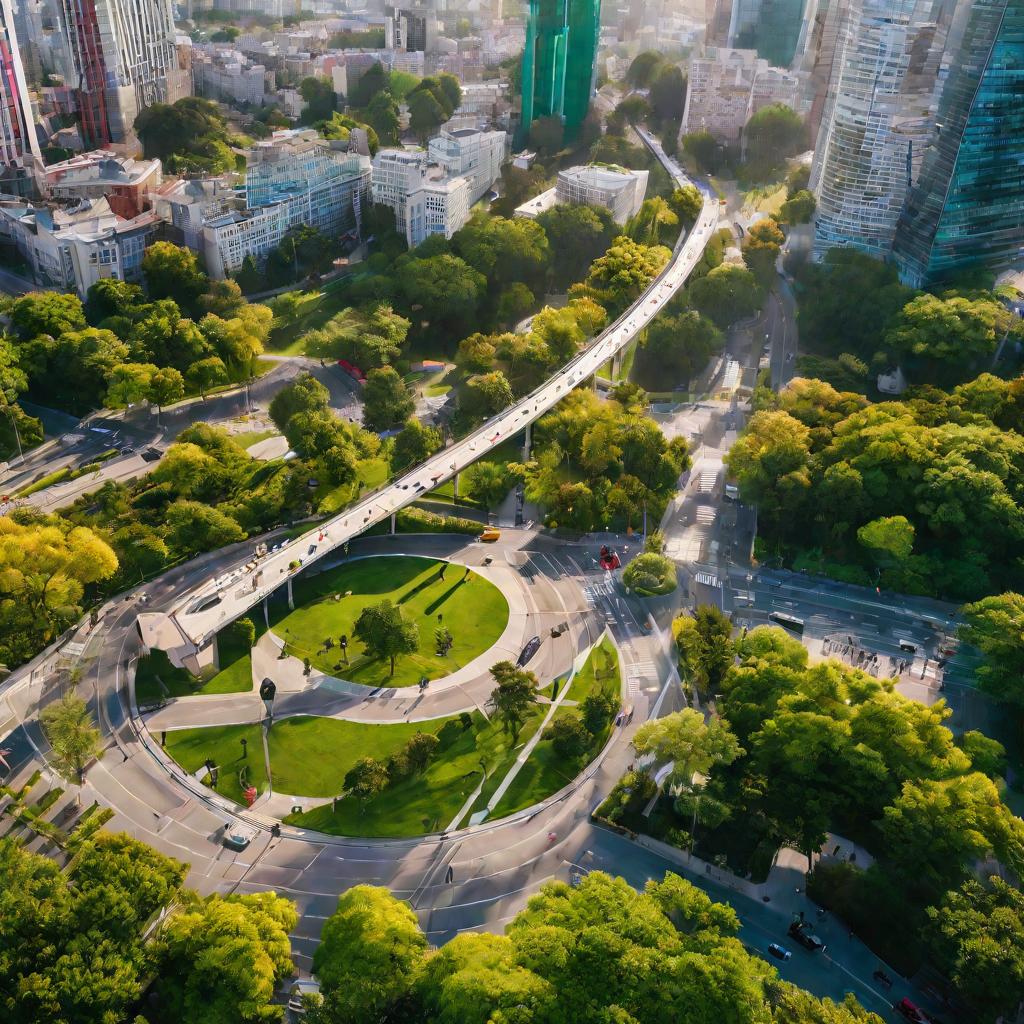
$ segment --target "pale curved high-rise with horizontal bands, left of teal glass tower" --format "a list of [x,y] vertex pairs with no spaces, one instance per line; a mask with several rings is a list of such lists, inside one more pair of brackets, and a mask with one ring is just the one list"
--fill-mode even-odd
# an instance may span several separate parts
[[947,0],[850,0],[818,132],[814,255],[890,255],[934,127]]

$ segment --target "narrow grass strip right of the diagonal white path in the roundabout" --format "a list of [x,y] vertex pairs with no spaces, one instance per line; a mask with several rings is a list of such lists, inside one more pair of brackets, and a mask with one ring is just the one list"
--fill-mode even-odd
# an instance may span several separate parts
[[[618,654],[608,637],[604,637],[591,651],[590,657],[572,680],[566,697],[582,700],[588,693],[598,690],[617,697],[622,692],[622,685]],[[575,709],[563,706],[555,712],[552,723],[556,719],[570,714],[578,713]],[[548,728],[550,727],[551,723],[549,723]],[[514,814],[567,785],[597,757],[608,741],[608,736],[613,728],[614,720],[612,719],[597,735],[591,737],[588,749],[574,759],[566,759],[558,754],[552,746],[551,740],[542,736],[540,742],[534,748],[534,753],[519,770],[519,774],[505,791],[505,795],[495,808],[492,817],[503,818]]]

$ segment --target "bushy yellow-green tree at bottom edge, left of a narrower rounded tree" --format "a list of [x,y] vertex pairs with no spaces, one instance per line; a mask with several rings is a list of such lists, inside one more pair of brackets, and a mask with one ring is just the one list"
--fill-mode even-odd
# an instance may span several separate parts
[[295,904],[273,892],[194,894],[160,931],[161,1012],[195,1024],[280,1018],[273,996],[293,971]]

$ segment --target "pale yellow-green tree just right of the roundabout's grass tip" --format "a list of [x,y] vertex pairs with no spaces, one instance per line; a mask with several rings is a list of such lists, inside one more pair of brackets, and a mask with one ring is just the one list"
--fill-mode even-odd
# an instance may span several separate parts
[[707,776],[715,765],[732,764],[743,753],[727,722],[687,708],[644,722],[633,737],[637,754],[651,754],[655,764],[674,762],[670,784],[694,788],[694,776]]

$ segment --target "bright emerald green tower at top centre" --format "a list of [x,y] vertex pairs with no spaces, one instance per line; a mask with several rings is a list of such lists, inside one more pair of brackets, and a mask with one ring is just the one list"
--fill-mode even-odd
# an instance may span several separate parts
[[518,144],[538,118],[558,117],[571,141],[587,117],[601,0],[529,0],[522,55],[522,123]]

